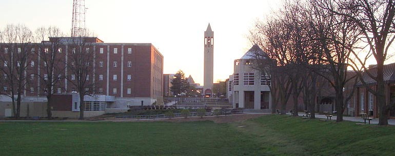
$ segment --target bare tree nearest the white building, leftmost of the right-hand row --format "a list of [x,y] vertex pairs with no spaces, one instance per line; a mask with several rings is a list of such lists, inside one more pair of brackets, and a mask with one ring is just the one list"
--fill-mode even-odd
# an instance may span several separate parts
[[271,20],[267,23],[256,23],[251,31],[250,41],[263,47],[264,52],[256,52],[255,68],[271,76],[269,89],[272,95],[272,113],[277,104],[281,104],[281,114],[286,114],[286,104],[292,91],[287,72],[289,62],[289,32],[281,21]]

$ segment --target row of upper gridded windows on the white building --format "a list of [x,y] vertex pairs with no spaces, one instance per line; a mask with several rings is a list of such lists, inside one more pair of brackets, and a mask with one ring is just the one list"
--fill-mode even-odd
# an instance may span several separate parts
[[[255,75],[253,72],[248,72],[248,73],[244,73],[243,75],[243,85],[254,85],[255,79]],[[270,75],[265,73],[261,75],[261,85],[270,85],[271,81],[270,81]],[[239,85],[239,73],[235,73],[233,75],[233,85],[234,86],[238,86]],[[229,90],[231,90],[231,86],[229,84]]]

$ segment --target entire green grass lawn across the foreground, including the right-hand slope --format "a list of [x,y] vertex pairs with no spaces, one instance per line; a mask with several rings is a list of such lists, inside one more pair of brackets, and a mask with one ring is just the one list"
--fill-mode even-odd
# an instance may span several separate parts
[[393,155],[395,127],[283,115],[205,122],[0,122],[0,155]]

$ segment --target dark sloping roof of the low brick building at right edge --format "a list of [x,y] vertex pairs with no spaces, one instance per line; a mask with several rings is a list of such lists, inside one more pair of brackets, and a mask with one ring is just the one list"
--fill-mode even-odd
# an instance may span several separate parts
[[[370,66],[369,69],[367,70],[371,75],[377,76],[377,66]],[[383,79],[384,83],[395,83],[395,63],[384,65],[384,71],[383,71]],[[362,74],[362,78],[364,82],[366,83],[367,86],[371,85],[376,85],[377,82],[376,80],[373,80],[366,72]],[[364,86],[362,81],[359,81],[357,83],[357,86]]]

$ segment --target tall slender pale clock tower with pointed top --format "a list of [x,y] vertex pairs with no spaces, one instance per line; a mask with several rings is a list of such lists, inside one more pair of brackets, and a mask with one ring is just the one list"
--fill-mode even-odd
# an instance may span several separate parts
[[205,95],[212,96],[213,86],[213,63],[214,63],[214,32],[211,30],[210,24],[204,32],[204,86]]

